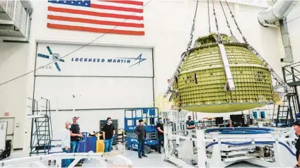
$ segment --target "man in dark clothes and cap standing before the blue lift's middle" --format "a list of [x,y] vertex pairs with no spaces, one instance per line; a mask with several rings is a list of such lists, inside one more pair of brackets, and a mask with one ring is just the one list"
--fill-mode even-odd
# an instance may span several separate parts
[[135,127],[134,133],[137,134],[137,154],[139,155],[139,159],[142,159],[142,157],[147,157],[145,155],[145,138],[146,138],[146,128],[144,126],[143,119],[139,119],[139,125]]

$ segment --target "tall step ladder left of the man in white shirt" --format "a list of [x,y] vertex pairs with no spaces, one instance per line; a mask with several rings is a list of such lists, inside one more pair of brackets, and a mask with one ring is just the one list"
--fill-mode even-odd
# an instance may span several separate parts
[[45,106],[39,111],[37,100],[28,99],[33,102],[32,114],[28,114],[28,118],[32,119],[29,155],[46,155],[51,148],[53,137],[50,101],[42,98],[41,101],[45,102]]

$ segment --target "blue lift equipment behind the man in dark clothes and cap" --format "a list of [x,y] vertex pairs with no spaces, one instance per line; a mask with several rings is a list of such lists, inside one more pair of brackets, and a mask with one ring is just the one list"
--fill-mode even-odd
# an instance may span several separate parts
[[137,150],[137,134],[134,128],[139,125],[139,119],[143,119],[146,128],[145,153],[158,150],[158,138],[156,124],[158,122],[158,108],[137,108],[125,110],[125,148]]

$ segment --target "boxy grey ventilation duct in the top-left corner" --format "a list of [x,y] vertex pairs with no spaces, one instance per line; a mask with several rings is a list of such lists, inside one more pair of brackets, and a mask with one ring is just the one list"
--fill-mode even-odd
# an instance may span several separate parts
[[30,1],[0,1],[0,39],[4,42],[28,42],[32,12]]

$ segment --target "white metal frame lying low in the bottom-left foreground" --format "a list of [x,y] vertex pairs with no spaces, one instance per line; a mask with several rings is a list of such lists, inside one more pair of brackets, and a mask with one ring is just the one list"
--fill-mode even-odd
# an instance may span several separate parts
[[[129,160],[127,157],[124,157],[122,155],[115,155],[117,157],[117,160],[123,160],[125,161],[125,164],[122,165],[124,167],[125,165],[127,167],[132,167],[132,161]],[[105,160],[108,159],[108,157],[103,156],[103,153],[57,153],[52,155],[42,155],[42,156],[35,156],[35,157],[22,157],[17,159],[11,159],[11,160],[5,160],[3,162],[0,162],[0,167],[16,167],[16,164],[25,164],[25,163],[31,163],[34,164],[35,167],[47,167],[45,163],[47,163],[47,160],[56,160],[55,167],[61,167],[62,160],[63,159],[74,159],[73,162],[69,165],[69,167],[74,167],[77,162],[81,159],[87,159],[87,160],[97,160],[96,167],[108,167],[108,162]]]

